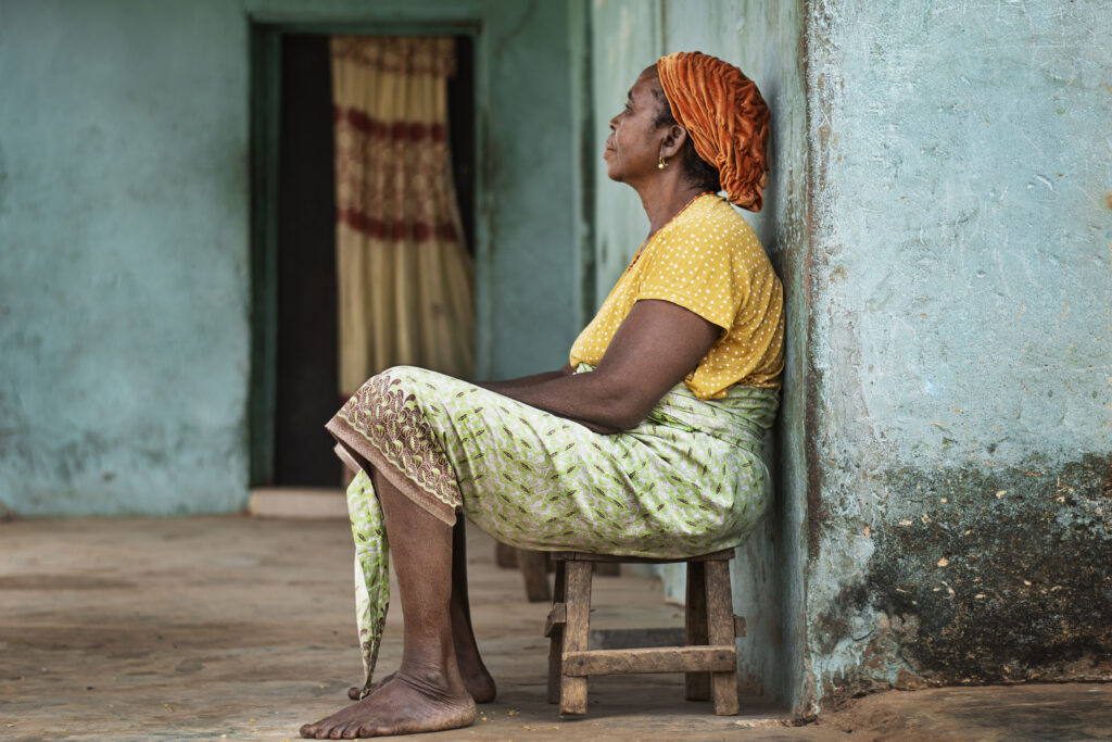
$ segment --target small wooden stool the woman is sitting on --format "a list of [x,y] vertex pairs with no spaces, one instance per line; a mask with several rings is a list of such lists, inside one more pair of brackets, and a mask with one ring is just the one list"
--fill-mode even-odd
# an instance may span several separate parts
[[[648,672],[685,673],[684,696],[689,701],[714,699],[714,713],[737,713],[737,649],[735,636],[745,635],[745,620],[735,616],[729,588],[729,560],[734,550],[675,560],[553,552],[556,585],[553,609],[545,625],[548,650],[548,703],[559,702],[562,714],[587,713],[587,677]],[[590,578],[596,562],[687,563],[687,600],[684,646],[642,649],[588,647],[590,636]],[[632,632],[607,632],[631,634]],[[616,643],[622,643],[618,640]]]

